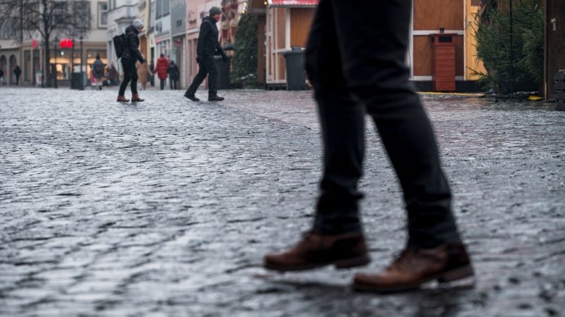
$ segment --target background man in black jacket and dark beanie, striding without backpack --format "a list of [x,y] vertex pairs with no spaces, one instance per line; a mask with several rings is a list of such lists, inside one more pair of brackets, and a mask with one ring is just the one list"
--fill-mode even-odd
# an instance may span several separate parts
[[216,23],[222,16],[220,8],[213,6],[210,8],[210,15],[202,19],[200,25],[200,33],[198,35],[198,44],[196,46],[196,62],[198,63],[198,74],[194,77],[194,81],[189,89],[186,89],[184,97],[192,101],[200,101],[196,98],[195,93],[198,86],[208,76],[208,101],[222,101],[222,97],[218,96],[218,69],[216,69],[214,54],[218,52],[224,61],[227,61],[227,55],[218,42],[218,27]]

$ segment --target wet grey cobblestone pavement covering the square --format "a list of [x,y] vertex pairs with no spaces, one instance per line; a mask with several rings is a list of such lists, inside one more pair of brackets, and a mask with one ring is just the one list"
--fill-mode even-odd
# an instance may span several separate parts
[[[0,89],[0,316],[565,316],[565,113],[422,97],[475,263],[473,289],[352,292],[403,246],[379,138],[362,190],[366,268],[261,268],[311,222],[311,92]],[[198,92],[204,95],[204,92]]]

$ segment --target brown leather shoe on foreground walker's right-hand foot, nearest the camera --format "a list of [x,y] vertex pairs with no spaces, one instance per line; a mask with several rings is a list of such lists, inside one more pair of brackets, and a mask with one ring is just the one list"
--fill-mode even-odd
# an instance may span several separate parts
[[474,275],[463,244],[443,244],[434,249],[404,249],[384,271],[355,275],[353,288],[368,292],[400,292],[424,282],[451,282]]

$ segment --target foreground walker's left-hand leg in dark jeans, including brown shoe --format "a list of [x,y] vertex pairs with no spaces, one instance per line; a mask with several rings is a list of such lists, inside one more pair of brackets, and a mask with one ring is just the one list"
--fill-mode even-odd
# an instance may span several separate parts
[[345,85],[331,1],[321,0],[307,44],[307,73],[314,85],[323,137],[323,178],[313,228],[295,247],[267,254],[265,267],[299,271],[333,264],[369,263],[357,182],[364,156],[364,108]]

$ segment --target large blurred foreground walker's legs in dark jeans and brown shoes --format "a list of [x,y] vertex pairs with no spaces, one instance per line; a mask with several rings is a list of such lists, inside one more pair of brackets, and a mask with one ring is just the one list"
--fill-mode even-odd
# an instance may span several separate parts
[[[408,240],[388,268],[355,275],[354,289],[400,292],[431,280],[474,275],[451,211],[451,190],[432,125],[408,83],[411,11],[411,0],[319,2],[306,69],[321,120],[321,190],[311,230],[295,247],[266,254],[266,268],[300,271],[369,263],[359,218],[362,193],[357,189],[367,113],[403,189]],[[368,12],[376,16],[363,18]]]

